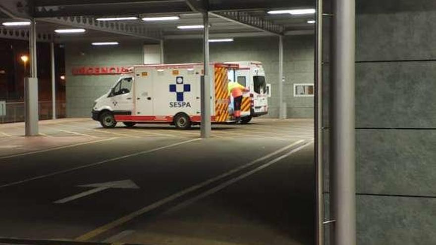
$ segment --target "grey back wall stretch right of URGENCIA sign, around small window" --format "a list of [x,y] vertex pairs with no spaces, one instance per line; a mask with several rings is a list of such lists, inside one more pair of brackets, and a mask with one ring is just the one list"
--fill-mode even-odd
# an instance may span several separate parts
[[[293,97],[294,83],[314,83],[314,36],[288,36],[283,40],[285,83],[283,95],[289,118],[311,118],[313,97]],[[165,63],[201,62],[201,40],[165,42]],[[237,38],[232,43],[211,43],[211,61],[257,60],[264,65],[267,82],[272,84],[269,117],[278,117],[278,38]]]

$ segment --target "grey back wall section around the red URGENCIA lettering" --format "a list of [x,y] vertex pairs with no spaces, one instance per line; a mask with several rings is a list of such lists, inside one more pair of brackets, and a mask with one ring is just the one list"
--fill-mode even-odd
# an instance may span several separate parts
[[78,66],[134,65],[143,62],[142,42],[122,42],[119,46],[95,47],[89,43],[65,44],[66,115],[90,117],[93,102],[115,83],[119,75],[73,76]]

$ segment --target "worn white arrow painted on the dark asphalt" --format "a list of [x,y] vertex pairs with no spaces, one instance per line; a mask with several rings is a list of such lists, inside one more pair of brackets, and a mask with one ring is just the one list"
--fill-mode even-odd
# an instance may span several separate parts
[[119,188],[119,189],[139,189],[139,186],[137,186],[133,181],[131,180],[119,180],[119,181],[111,181],[111,182],[104,182],[104,183],[95,183],[95,184],[89,184],[89,185],[80,185],[79,187],[95,187],[94,189],[91,189],[86,192],[79,193],[74,196],[68,196],[62,199],[59,199],[57,201],[54,201],[53,203],[65,203],[68,201],[72,201],[84,196],[89,196],[94,193],[98,193],[101,191],[104,191],[109,188]]

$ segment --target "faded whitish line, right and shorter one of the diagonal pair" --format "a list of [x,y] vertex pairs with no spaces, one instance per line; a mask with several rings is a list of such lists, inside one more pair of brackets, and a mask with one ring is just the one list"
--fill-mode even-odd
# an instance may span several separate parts
[[252,175],[252,174],[254,174],[254,173],[258,172],[258,171],[261,171],[262,169],[264,169],[264,168],[266,168],[266,167],[268,167],[268,166],[270,166],[270,165],[272,165],[272,164],[274,164],[274,163],[276,163],[276,162],[278,162],[278,161],[280,161],[280,160],[282,160],[282,159],[288,157],[289,155],[292,155],[293,153],[295,153],[295,152],[297,152],[297,151],[303,149],[304,147],[309,146],[310,144],[311,144],[311,142],[307,142],[307,143],[304,144],[303,146],[297,147],[297,148],[295,148],[295,149],[289,151],[288,153],[286,153],[286,154],[284,154],[284,155],[281,155],[281,156],[279,156],[279,157],[277,157],[277,158],[274,158],[274,159],[272,159],[271,161],[269,161],[269,162],[267,162],[267,163],[265,163],[265,164],[263,164],[263,165],[261,165],[261,166],[255,168],[255,169],[253,169],[253,170],[250,170],[250,171],[248,171],[248,172],[246,172],[246,173],[244,173],[244,174],[241,174],[241,175],[239,175],[239,176],[237,176],[237,177],[235,177],[235,178],[233,178],[233,179],[230,179],[230,180],[228,180],[228,181],[226,181],[226,182],[224,182],[224,183],[222,183],[222,184],[220,184],[220,185],[218,185],[218,186],[216,186],[216,187],[214,187],[214,188],[212,188],[212,189],[210,189],[210,190],[208,190],[208,191],[206,191],[206,192],[204,192],[204,193],[202,193],[202,194],[200,194],[200,195],[198,195],[198,196],[195,196],[195,197],[192,197],[192,198],[190,198],[190,199],[188,199],[188,200],[185,200],[184,202],[182,202],[182,203],[180,203],[180,204],[178,204],[178,205],[172,207],[171,209],[169,209],[169,210],[167,211],[167,213],[170,213],[170,212],[173,212],[173,211],[179,210],[179,209],[181,209],[181,208],[183,208],[183,207],[186,207],[186,206],[188,206],[188,205],[190,205],[190,204],[192,204],[192,203],[198,201],[199,199],[202,199],[202,198],[204,198],[204,197],[206,197],[206,196],[209,196],[209,195],[212,195],[212,194],[214,194],[214,193],[217,193],[218,191],[224,189],[225,187],[227,187],[227,186],[229,186],[229,185],[231,185],[231,184],[233,184],[233,183],[235,183],[235,182],[237,182],[237,181],[240,181],[240,180],[242,180],[242,179],[245,179],[245,178],[247,178],[248,176],[250,176],[250,175]]

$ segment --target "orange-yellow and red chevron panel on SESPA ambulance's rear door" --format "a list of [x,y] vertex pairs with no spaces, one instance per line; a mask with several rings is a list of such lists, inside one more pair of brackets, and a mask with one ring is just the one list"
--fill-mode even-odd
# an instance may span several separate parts
[[227,68],[215,67],[215,121],[225,122],[228,114]]

